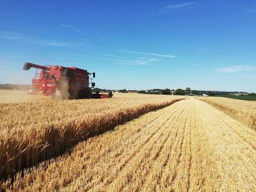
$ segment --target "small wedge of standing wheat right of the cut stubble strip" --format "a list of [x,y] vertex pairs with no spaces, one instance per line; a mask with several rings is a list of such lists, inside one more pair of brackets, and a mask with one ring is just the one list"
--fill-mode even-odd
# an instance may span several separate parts
[[200,98],[200,100],[220,109],[256,131],[256,101],[222,97]]

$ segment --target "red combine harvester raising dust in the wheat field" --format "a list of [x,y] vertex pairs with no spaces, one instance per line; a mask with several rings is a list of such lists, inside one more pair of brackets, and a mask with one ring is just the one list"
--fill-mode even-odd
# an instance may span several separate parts
[[[92,94],[91,87],[95,86],[90,75],[95,73],[76,67],[64,66],[40,66],[26,62],[23,70],[36,68],[36,74],[32,79],[32,87],[29,94],[43,94],[54,99],[78,99],[78,98],[111,98],[109,94]],[[40,71],[38,71],[38,69]],[[91,80],[91,82],[89,82]],[[89,84],[92,86],[90,87]]]

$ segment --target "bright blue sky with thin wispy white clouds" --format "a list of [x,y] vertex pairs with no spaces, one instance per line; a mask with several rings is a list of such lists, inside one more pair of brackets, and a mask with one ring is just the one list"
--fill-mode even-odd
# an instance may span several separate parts
[[29,84],[25,61],[106,89],[256,92],[256,1],[0,0],[0,84]]

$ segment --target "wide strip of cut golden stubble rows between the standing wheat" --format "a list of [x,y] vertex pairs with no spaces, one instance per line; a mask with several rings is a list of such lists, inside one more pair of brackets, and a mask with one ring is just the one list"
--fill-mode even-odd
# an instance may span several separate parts
[[194,98],[79,143],[14,191],[254,191],[256,132]]

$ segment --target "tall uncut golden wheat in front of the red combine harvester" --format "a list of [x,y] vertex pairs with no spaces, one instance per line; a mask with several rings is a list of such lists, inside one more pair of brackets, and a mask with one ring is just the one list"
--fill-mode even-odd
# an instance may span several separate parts
[[180,99],[121,94],[99,100],[0,104],[0,178]]

